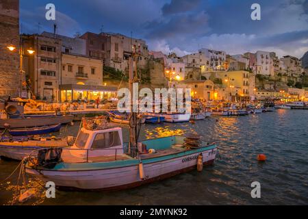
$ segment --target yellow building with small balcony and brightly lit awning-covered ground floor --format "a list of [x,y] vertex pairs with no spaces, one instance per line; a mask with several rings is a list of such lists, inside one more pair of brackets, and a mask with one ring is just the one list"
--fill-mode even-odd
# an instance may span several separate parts
[[90,101],[116,96],[116,88],[103,83],[103,61],[84,55],[62,54],[60,101]]

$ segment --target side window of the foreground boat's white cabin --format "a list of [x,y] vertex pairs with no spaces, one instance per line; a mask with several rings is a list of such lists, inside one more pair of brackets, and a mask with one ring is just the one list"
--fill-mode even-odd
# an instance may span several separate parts
[[121,141],[118,131],[98,133],[94,138],[92,149],[107,149],[120,144]]

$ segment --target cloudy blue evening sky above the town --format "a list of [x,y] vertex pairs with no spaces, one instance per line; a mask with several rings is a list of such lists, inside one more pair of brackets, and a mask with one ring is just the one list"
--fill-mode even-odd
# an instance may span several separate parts
[[[21,0],[23,33],[53,31],[47,3],[55,4],[57,33],[67,36],[132,31],[150,50],[178,55],[202,47],[296,57],[308,51],[308,0]],[[261,5],[261,21],[251,20],[253,3]]]

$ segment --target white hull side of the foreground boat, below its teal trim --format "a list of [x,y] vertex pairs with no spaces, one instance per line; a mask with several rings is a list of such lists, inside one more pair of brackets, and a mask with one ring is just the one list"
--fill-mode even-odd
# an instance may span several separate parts
[[[212,164],[216,157],[217,148],[203,151],[203,163]],[[139,166],[125,166],[120,168],[105,168],[99,170],[34,170],[26,168],[29,175],[38,177],[42,181],[53,181],[59,188],[74,190],[120,190],[132,188],[144,183],[150,183],[192,170],[196,167],[198,155],[201,152],[183,155],[161,162],[146,164],[143,160],[145,179],[140,179]]]

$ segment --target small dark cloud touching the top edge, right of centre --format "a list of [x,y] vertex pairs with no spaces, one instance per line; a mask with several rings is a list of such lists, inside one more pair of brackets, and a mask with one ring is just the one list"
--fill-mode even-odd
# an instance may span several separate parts
[[162,12],[164,15],[189,12],[197,8],[200,3],[201,0],[171,0],[163,6]]

